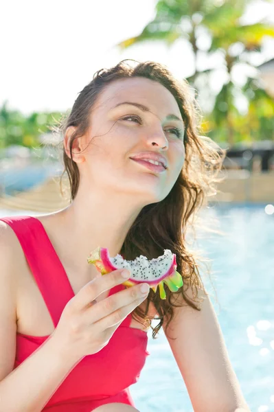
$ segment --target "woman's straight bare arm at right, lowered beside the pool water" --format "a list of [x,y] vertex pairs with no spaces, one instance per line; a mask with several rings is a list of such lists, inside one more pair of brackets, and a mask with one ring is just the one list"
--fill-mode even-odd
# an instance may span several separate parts
[[[195,412],[250,412],[229,361],[225,340],[209,297],[201,311],[174,308],[166,334]],[[187,296],[193,300],[190,290]],[[178,302],[178,301],[177,301]],[[178,304],[178,303],[176,303]],[[185,304],[184,304],[185,305]],[[165,331],[166,322],[164,323]]]

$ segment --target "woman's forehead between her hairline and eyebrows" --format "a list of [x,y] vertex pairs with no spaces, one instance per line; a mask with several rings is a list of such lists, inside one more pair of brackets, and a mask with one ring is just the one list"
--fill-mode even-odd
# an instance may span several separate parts
[[116,104],[128,100],[144,104],[159,115],[173,113],[181,118],[179,106],[172,93],[159,82],[141,77],[111,82],[104,87],[95,106],[102,105],[109,111]]

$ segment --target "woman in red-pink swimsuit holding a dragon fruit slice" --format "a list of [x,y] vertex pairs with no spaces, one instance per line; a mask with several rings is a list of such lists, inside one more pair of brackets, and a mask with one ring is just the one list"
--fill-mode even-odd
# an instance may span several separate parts
[[[249,411],[185,245],[224,157],[198,130],[187,82],[155,62],[122,61],[80,92],[62,126],[69,207],[0,222],[1,410],[137,411],[128,387],[157,317],[194,411]],[[127,260],[170,249],[184,286],[163,300],[121,271],[100,277],[87,263],[98,246]]]

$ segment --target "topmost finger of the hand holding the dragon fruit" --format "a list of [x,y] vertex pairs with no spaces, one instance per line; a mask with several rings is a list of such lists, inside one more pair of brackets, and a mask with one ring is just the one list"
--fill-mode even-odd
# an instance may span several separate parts
[[84,310],[87,306],[90,306],[91,302],[101,293],[125,282],[126,279],[121,275],[122,271],[122,269],[119,269],[106,275],[95,277],[91,282],[85,284],[77,295],[71,299],[73,309],[79,311]]

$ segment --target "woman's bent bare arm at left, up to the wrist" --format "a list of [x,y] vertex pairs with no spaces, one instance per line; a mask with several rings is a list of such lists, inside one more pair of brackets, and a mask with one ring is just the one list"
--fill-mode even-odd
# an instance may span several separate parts
[[12,371],[16,352],[18,269],[11,230],[0,222],[0,411],[40,412],[77,361],[58,347],[52,335]]

